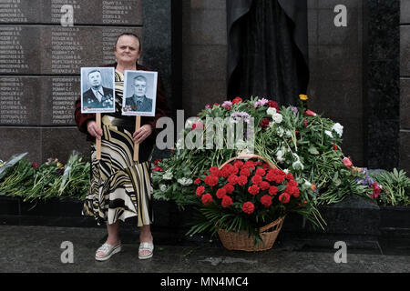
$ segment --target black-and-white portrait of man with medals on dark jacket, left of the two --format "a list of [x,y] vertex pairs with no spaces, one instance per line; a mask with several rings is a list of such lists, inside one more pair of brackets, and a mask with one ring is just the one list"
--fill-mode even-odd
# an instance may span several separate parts
[[81,68],[81,113],[116,111],[113,67]]

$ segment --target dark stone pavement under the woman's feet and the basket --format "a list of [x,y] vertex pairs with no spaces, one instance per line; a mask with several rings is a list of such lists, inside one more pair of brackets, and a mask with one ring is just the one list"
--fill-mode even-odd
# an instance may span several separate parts
[[[379,273],[410,272],[410,256],[352,253],[336,264],[335,249],[295,250],[286,244],[263,252],[228,251],[215,242],[170,245],[153,231],[155,250],[138,259],[138,230],[121,229],[123,249],[106,262],[94,254],[105,241],[104,227],[0,226],[1,273]],[[73,244],[74,263],[63,264],[61,244]]]

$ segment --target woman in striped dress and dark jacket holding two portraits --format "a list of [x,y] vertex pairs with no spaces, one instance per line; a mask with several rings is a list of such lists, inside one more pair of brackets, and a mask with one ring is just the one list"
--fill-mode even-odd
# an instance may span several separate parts
[[[76,122],[79,130],[87,134],[88,141],[101,139],[101,160],[96,159],[95,146],[92,146],[91,185],[84,203],[83,214],[94,216],[98,225],[107,224],[108,238],[96,252],[98,261],[107,260],[121,250],[118,236],[119,220],[138,217],[141,227],[138,257],[146,259],[153,254],[149,162],[152,156],[156,135],[155,125],[161,116],[168,115],[169,109],[164,91],[158,82],[155,117],[141,117],[141,126],[135,131],[135,116],[121,115],[125,70],[147,70],[138,65],[141,43],[137,35],[118,36],[114,47],[117,62],[116,112],[101,114],[101,128],[97,126],[94,114],[81,114],[81,101],[76,102]],[[139,144],[138,164],[133,161],[134,142]]]

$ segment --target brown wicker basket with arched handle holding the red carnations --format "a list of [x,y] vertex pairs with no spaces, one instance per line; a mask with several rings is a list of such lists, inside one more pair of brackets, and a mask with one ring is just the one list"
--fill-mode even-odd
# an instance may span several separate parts
[[[234,161],[236,159],[251,159],[251,158],[258,158],[263,160],[264,162],[268,163],[269,166],[272,168],[276,168],[272,164],[271,161],[258,156],[258,155],[242,155],[242,156],[236,156],[232,157],[230,160],[225,162],[222,166],[220,166],[220,169],[231,163],[231,161]],[[220,236],[220,242],[222,243],[223,246],[225,246],[229,250],[242,250],[242,251],[247,251],[247,252],[252,252],[252,251],[264,251],[271,249],[276,237],[278,237],[279,232],[281,231],[282,225],[283,225],[283,217],[279,217],[272,223],[270,223],[267,226],[262,226],[259,230],[262,242],[258,242],[257,245],[255,246],[255,237],[249,236],[247,232],[241,231],[241,232],[230,232],[230,231],[225,231],[224,229],[219,229],[218,228],[218,235]]]

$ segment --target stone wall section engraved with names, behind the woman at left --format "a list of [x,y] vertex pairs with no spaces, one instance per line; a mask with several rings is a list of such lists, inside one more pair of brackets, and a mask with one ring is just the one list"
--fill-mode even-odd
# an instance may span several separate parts
[[117,36],[143,36],[142,18],[137,0],[0,0],[0,159],[88,153],[74,120],[80,67],[113,63]]

